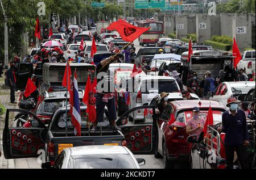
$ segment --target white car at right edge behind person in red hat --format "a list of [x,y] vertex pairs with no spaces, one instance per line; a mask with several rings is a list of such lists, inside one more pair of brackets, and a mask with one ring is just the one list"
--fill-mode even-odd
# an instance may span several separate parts
[[220,101],[226,106],[228,98],[246,95],[255,86],[255,82],[222,82],[214,92],[209,92],[210,100]]

